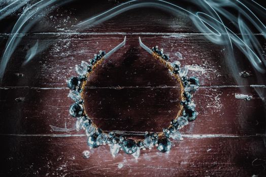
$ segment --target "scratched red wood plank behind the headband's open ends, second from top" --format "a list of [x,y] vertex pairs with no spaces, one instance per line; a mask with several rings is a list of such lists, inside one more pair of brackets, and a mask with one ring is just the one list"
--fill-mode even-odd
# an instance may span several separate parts
[[[121,35],[27,36],[13,54],[2,86],[62,87],[68,77],[76,75],[76,64],[82,60],[87,61],[101,49],[110,51],[122,38]],[[222,47],[214,46],[202,35],[142,35],[142,39],[149,47],[159,45],[164,48],[165,53],[170,54],[171,62],[179,60],[182,65],[189,65],[189,75],[198,76],[202,85],[264,84],[255,78],[255,73],[248,78],[234,73],[238,78],[238,81],[234,81],[233,73],[224,65]],[[37,41],[40,50],[42,46],[51,46],[22,66],[27,59],[26,53]],[[178,58],[178,52],[182,54],[182,58]],[[90,78],[91,86],[176,85],[168,70],[139,47],[138,35],[127,36],[126,46],[102,66]],[[252,71],[252,68],[251,65],[243,64],[240,70]],[[23,76],[18,76],[17,73],[22,73]]]

